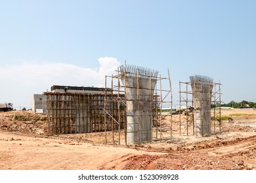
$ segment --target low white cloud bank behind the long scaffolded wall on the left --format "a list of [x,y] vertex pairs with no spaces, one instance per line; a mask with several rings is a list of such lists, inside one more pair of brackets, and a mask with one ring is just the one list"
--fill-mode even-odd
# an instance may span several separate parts
[[116,58],[99,58],[99,69],[67,63],[27,62],[0,67],[0,102],[11,101],[14,107],[30,107],[33,93],[43,93],[55,85],[104,86],[105,76],[115,74],[120,65]]

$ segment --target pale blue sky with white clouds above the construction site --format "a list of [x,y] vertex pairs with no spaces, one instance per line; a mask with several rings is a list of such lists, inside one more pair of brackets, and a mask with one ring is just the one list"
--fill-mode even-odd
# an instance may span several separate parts
[[[0,1],[0,102],[53,84],[102,86],[117,65],[206,75],[222,100],[256,101],[256,1]],[[9,91],[2,90],[8,88]],[[19,92],[17,93],[17,90]]]

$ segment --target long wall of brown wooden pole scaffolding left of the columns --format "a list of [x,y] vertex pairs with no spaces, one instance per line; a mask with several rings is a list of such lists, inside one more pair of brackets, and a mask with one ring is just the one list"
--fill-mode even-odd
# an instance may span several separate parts
[[[117,106],[115,94],[44,94],[47,95],[49,134],[91,133],[124,127],[125,105]],[[123,98],[124,95],[119,97]],[[106,112],[109,115],[106,115]],[[113,119],[120,124],[116,124]]]

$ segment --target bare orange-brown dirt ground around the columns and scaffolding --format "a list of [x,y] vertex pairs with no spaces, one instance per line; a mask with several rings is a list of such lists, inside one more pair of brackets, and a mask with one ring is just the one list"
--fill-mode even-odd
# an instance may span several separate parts
[[[124,144],[118,133],[47,135],[47,116],[29,111],[0,112],[0,169],[18,170],[223,170],[256,169],[256,110],[221,110],[221,133],[211,137],[163,131],[161,141]],[[178,125],[173,116],[173,125]],[[168,122],[169,119],[166,119]],[[176,120],[176,123],[175,123]],[[166,126],[163,125],[163,129]],[[175,129],[175,126],[173,127]],[[156,135],[156,130],[154,131]]]

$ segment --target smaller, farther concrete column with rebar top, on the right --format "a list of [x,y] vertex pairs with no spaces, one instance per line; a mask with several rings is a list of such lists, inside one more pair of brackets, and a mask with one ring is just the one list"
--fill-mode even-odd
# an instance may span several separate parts
[[213,79],[207,76],[190,76],[193,99],[196,136],[211,135],[211,95]]

